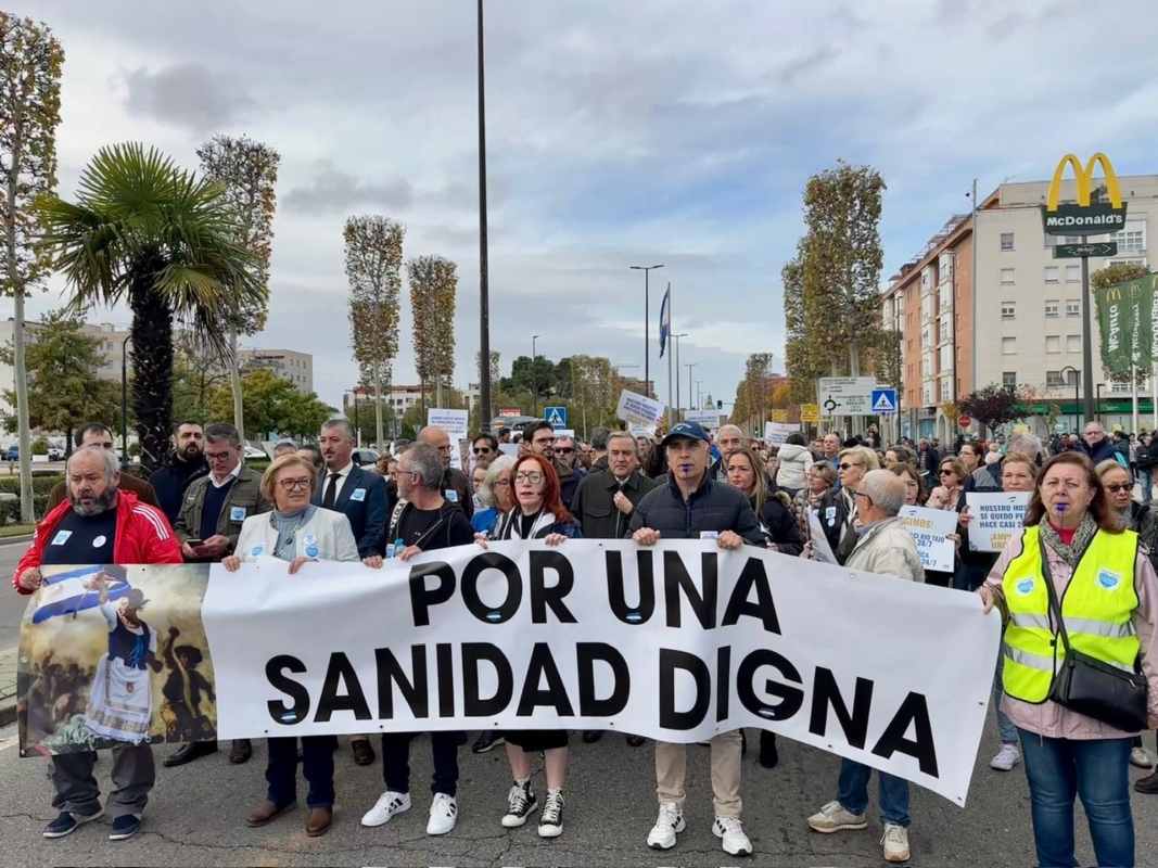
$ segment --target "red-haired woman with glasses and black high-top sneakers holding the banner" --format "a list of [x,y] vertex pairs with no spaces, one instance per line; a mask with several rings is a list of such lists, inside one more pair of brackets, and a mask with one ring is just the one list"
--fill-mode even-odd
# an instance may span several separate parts
[[[579,524],[559,499],[559,477],[541,455],[520,456],[512,471],[514,506],[501,517],[491,539],[542,539],[560,545],[581,536]],[[486,540],[479,537],[479,545]],[[543,753],[547,773],[547,801],[538,815],[538,836],[557,838],[563,833],[563,787],[567,778],[567,733],[565,729],[507,731],[507,762],[514,784],[507,793],[506,829],[518,829],[538,808],[530,788],[532,757]]]

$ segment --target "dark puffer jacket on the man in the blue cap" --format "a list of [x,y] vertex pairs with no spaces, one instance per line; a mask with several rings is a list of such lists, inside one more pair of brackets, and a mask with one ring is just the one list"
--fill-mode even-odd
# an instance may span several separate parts
[[739,488],[713,481],[710,473],[704,473],[687,501],[670,477],[648,492],[631,514],[631,531],[639,528],[658,530],[662,539],[699,539],[701,534],[731,530],[750,545],[764,545],[748,498]]

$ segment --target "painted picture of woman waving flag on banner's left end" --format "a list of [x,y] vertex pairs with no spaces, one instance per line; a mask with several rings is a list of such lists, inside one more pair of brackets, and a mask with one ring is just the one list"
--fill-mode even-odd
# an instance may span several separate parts
[[44,567],[21,627],[27,753],[217,738],[210,566]]

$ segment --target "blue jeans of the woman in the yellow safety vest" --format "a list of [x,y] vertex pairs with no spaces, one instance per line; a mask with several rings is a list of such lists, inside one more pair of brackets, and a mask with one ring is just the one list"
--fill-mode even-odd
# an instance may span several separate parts
[[1033,840],[1042,866],[1077,865],[1073,858],[1073,796],[1082,796],[1090,821],[1095,862],[1104,868],[1134,865],[1130,815],[1130,738],[1071,741],[1021,734],[1029,781]]

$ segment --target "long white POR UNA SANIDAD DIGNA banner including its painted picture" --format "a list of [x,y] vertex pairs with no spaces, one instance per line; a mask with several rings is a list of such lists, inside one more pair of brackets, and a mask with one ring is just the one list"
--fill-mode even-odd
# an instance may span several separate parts
[[23,752],[428,730],[776,731],[965,804],[997,618],[713,539],[459,546],[382,569],[64,568],[21,631]]

